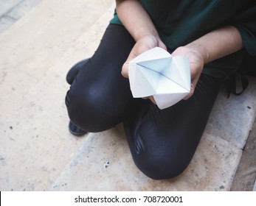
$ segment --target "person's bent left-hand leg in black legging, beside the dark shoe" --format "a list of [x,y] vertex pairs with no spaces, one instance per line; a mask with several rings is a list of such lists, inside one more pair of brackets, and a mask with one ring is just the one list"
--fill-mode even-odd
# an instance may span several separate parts
[[124,26],[108,25],[89,63],[71,81],[66,96],[69,117],[78,127],[100,132],[122,121],[132,95],[121,69],[134,43]]

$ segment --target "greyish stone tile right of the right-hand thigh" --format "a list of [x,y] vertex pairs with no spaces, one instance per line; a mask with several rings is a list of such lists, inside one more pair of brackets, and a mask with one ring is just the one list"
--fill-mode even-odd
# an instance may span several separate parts
[[255,78],[249,81],[249,89],[241,96],[232,95],[227,98],[226,93],[219,94],[206,128],[239,149],[243,149],[250,130],[241,128],[252,128],[255,118]]

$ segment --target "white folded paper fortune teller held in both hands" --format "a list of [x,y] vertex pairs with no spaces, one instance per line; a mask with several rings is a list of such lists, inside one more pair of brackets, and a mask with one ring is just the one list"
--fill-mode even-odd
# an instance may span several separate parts
[[172,57],[159,47],[131,60],[128,75],[134,98],[153,96],[160,109],[176,104],[190,93],[188,58]]

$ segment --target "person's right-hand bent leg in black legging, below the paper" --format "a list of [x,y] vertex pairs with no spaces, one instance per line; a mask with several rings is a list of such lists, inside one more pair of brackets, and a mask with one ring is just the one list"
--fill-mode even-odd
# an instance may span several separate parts
[[187,168],[210,116],[218,85],[218,79],[202,75],[190,99],[165,110],[141,104],[143,107],[126,118],[131,153],[144,174],[156,180],[170,179]]

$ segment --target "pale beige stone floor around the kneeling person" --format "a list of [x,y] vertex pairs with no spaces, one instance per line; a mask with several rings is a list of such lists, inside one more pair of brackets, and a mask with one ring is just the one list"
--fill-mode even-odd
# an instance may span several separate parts
[[[13,19],[0,26],[0,191],[252,191],[255,78],[241,96],[221,90],[183,174],[151,180],[134,166],[122,124],[80,138],[67,130],[66,72],[97,49],[114,1],[0,0],[0,8],[0,25]],[[252,186],[241,186],[248,175]]]

